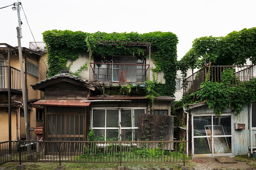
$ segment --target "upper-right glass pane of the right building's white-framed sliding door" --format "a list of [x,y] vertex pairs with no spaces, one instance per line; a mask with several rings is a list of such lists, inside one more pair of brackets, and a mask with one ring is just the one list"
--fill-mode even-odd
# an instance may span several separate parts
[[[218,133],[221,135],[231,135],[231,115],[222,115],[221,117],[213,116],[213,126],[216,126],[216,130],[221,131],[221,133],[213,131],[213,135],[218,135]],[[216,132],[216,134],[214,134],[214,132]]]

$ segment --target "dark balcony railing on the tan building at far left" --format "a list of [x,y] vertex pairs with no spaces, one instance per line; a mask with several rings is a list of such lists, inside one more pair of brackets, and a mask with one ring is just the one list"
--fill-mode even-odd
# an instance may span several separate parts
[[22,91],[20,70],[11,66],[0,66],[0,88],[2,91],[4,89],[7,91],[9,87],[12,90]]

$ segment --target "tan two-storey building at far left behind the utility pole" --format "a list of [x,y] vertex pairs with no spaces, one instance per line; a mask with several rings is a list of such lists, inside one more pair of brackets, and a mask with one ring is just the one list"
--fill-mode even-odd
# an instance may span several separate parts
[[[44,53],[22,48],[25,84],[28,99],[31,139],[36,140],[34,127],[43,125],[42,108],[31,107],[31,102],[40,99],[40,93],[29,84],[46,78]],[[20,79],[18,47],[0,43],[0,142],[26,139],[25,118]],[[11,130],[10,130],[11,129]]]

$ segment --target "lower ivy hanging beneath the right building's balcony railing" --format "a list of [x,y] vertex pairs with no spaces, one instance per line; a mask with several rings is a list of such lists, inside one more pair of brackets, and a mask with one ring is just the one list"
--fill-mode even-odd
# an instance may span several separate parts
[[200,90],[185,95],[182,102],[185,106],[197,102],[207,102],[209,108],[214,108],[216,115],[221,115],[223,110],[234,107],[236,115],[243,110],[243,106],[256,101],[256,78],[243,82],[237,86],[229,86],[233,72],[229,69],[223,71],[222,82],[211,82],[209,76],[203,82]]

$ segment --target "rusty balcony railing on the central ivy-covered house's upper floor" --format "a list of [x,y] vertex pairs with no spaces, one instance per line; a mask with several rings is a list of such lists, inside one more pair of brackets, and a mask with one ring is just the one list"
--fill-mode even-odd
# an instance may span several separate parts
[[90,63],[90,82],[138,83],[148,74],[149,64]]

